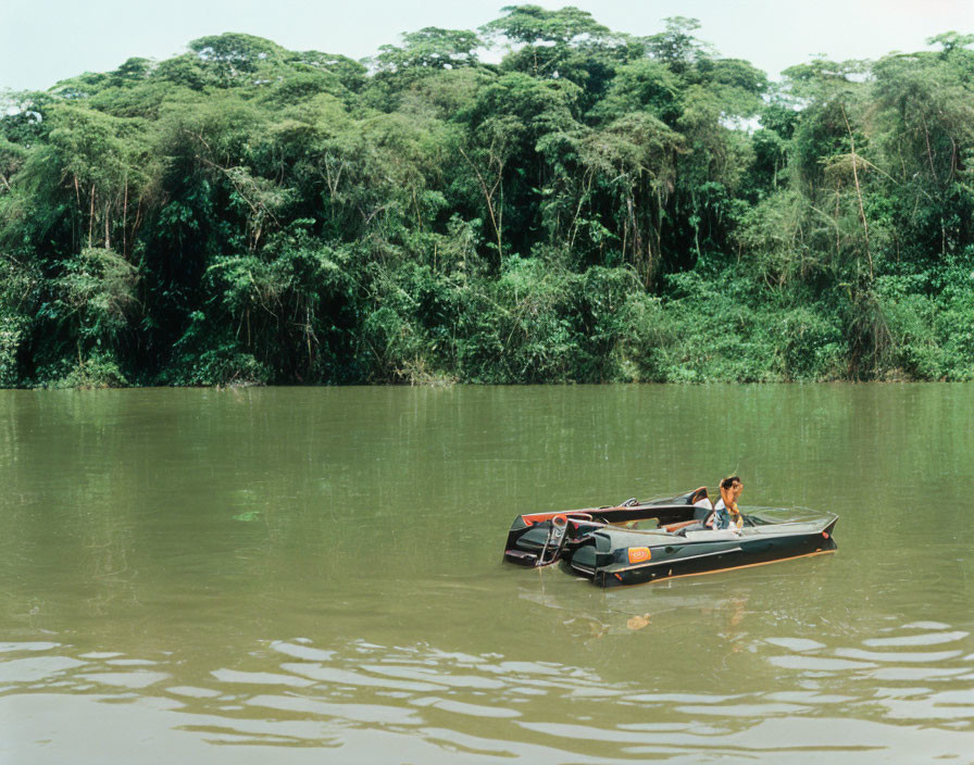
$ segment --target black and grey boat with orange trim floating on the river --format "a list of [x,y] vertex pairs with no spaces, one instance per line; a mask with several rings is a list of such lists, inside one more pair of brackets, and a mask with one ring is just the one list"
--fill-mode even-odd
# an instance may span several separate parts
[[783,517],[786,511],[742,513],[744,527],[714,531],[707,489],[648,502],[561,513],[519,515],[504,560],[523,566],[561,561],[602,587],[772,563],[836,549],[838,516]]

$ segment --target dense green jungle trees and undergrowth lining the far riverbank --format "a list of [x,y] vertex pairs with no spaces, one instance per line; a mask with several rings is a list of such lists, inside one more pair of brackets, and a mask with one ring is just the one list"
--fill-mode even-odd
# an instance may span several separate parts
[[0,386],[972,378],[974,37],[770,83],[697,26],[7,93]]

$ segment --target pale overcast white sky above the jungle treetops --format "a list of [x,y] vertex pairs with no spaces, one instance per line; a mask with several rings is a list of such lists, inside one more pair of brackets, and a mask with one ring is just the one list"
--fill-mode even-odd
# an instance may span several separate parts
[[[534,0],[574,4],[634,35],[666,16],[702,23],[722,55],[773,77],[824,53],[874,59],[916,51],[941,32],[974,33],[974,0]],[[0,88],[42,89],[82,72],[113,70],[133,55],[165,59],[189,40],[223,32],[267,37],[292,50],[372,55],[424,26],[475,29],[513,0],[0,0]]]

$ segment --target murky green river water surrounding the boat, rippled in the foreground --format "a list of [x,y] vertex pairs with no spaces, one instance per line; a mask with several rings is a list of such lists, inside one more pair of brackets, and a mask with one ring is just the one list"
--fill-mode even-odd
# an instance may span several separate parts
[[[730,472],[838,551],[602,591]],[[974,386],[0,391],[0,763],[974,760]]]

